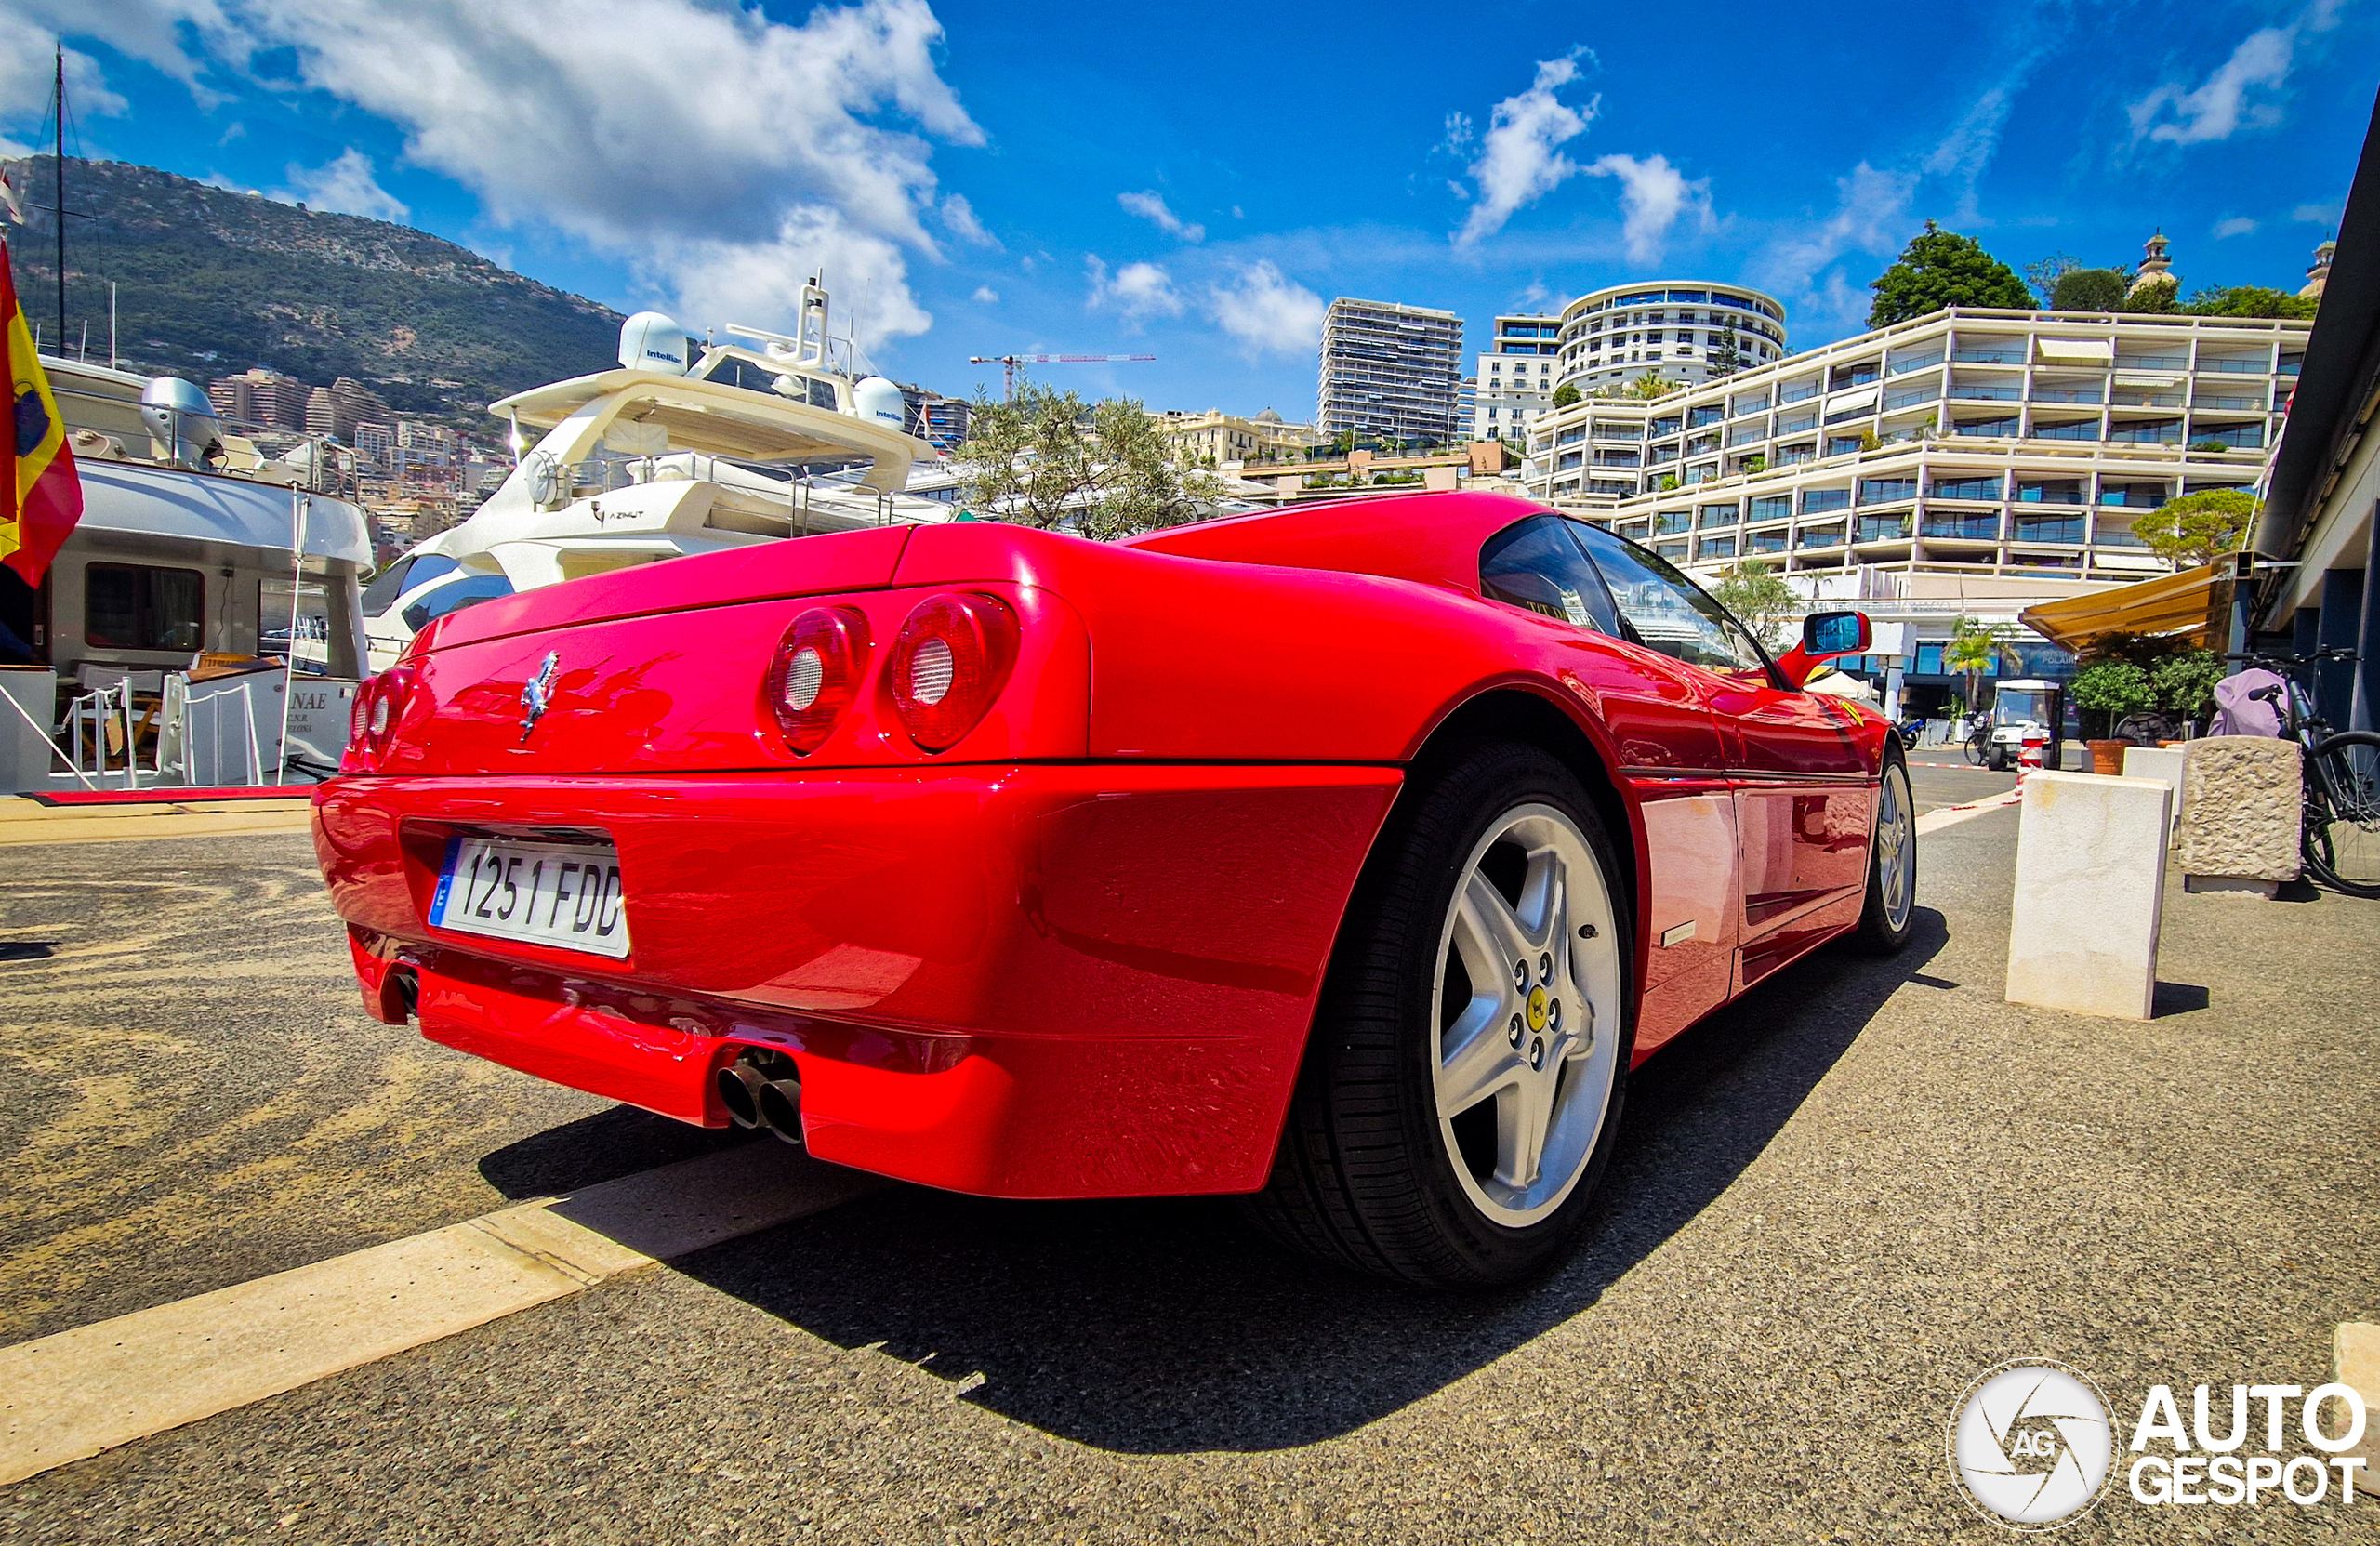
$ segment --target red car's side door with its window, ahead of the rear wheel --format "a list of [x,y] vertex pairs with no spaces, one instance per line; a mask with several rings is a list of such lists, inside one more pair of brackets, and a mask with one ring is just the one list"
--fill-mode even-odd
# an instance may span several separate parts
[[1752,635],[1659,557],[1609,533],[1590,547],[1621,616],[1709,673],[1740,842],[1740,989],[1859,918],[1875,794],[1856,721],[1840,699],[1787,687]]

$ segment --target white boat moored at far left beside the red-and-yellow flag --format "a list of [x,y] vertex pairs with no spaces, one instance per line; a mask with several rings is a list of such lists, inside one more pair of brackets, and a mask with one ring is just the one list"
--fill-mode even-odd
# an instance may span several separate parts
[[[0,704],[0,792],[326,773],[362,675],[359,583],[371,573],[338,452],[281,435],[276,454],[271,433],[224,423],[178,376],[40,364],[83,514],[40,585],[0,566],[0,623],[14,637],[7,647],[0,635],[0,687],[21,709]],[[200,716],[209,744],[198,749],[193,675],[252,678],[238,683],[236,728]],[[83,744],[81,780],[26,735],[36,721]],[[126,744],[138,768],[126,768]]]

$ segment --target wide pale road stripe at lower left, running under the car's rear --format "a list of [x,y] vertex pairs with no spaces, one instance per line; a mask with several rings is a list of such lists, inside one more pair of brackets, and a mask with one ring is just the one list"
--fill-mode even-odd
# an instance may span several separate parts
[[0,1349],[0,1484],[883,1184],[783,1144],[743,1144]]

